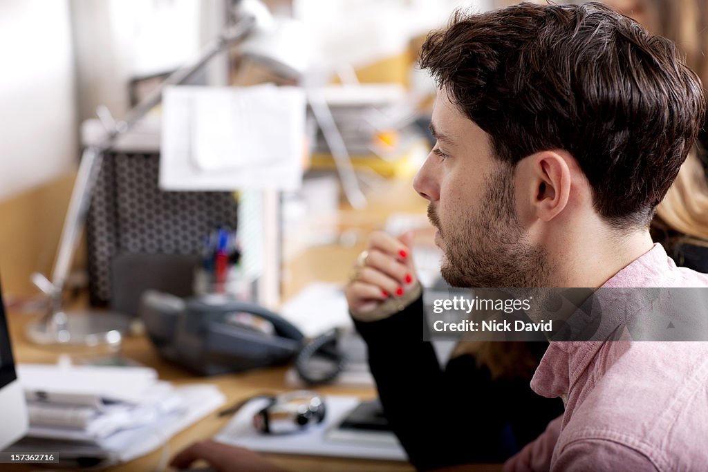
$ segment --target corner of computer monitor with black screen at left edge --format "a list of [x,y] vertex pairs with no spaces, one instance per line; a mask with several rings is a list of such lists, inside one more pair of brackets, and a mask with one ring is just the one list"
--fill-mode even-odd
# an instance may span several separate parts
[[28,428],[27,404],[15,373],[5,304],[0,288],[0,451],[25,435]]

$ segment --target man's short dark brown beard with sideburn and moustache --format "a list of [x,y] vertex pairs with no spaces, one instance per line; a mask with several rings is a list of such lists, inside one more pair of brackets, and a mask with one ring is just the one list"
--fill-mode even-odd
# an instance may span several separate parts
[[467,212],[444,227],[428,205],[428,218],[443,241],[440,274],[452,287],[547,287],[547,253],[528,241],[518,221],[513,173],[513,166],[503,163],[476,214]]

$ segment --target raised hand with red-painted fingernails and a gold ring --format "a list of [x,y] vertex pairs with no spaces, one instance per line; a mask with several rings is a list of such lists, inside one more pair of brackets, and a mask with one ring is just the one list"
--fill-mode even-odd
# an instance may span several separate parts
[[398,239],[383,231],[371,234],[368,247],[362,253],[365,257],[360,255],[354,263],[353,277],[344,289],[350,311],[373,311],[389,298],[403,297],[407,290],[416,286],[412,242],[410,232]]

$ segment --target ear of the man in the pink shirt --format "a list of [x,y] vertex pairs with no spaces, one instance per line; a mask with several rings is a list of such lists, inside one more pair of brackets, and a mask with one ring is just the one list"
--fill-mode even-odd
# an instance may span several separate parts
[[566,151],[541,151],[528,156],[531,213],[542,221],[551,221],[568,205],[571,192],[571,168]]

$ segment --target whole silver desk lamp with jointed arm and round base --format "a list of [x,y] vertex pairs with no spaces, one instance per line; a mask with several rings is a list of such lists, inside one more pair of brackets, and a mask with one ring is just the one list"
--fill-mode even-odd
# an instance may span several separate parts
[[[216,54],[226,50],[230,45],[241,42],[246,44],[246,40],[250,40],[252,47],[255,47],[258,38],[268,38],[269,34],[278,33],[277,25],[270,16],[268,8],[259,0],[239,1],[234,5],[233,16],[235,21],[232,25],[225,28],[215,40],[205,46],[198,59],[173,72],[152,93],[129,110],[124,120],[113,122],[102,117],[106,125],[105,138],[98,144],[86,147],[81,156],[69,208],[64,218],[52,280],[39,273],[32,275],[33,283],[47,297],[50,297],[47,313],[28,327],[28,338],[33,342],[42,345],[120,345],[122,333],[127,331],[130,324],[129,316],[109,311],[67,313],[62,306],[64,282],[67,280],[79,235],[86,221],[91,191],[101,170],[103,154],[122,134],[132,129],[149,110],[160,103],[162,91],[166,86],[185,83]],[[257,56],[258,54],[254,54],[254,59],[258,60]],[[292,61],[284,64],[284,67],[278,67],[278,59],[275,58],[268,62],[268,66],[278,74],[296,72],[292,67]]]

